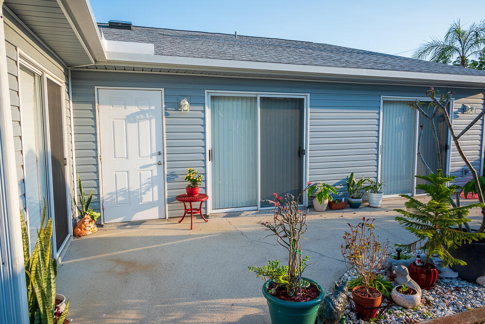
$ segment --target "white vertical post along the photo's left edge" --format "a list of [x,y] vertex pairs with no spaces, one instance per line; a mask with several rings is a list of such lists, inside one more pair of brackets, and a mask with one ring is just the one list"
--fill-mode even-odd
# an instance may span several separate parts
[[27,288],[25,284],[24,252],[20,227],[20,207],[16,178],[14,133],[5,49],[5,29],[3,22],[3,0],[0,0],[0,177],[3,184],[0,197],[2,203],[5,244],[9,271],[12,315],[16,323],[29,323]]

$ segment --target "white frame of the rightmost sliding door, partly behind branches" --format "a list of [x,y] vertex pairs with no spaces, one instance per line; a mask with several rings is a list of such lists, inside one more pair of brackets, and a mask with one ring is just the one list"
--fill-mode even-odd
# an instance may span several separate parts
[[[380,102],[380,108],[379,108],[379,146],[378,146],[378,162],[377,162],[377,180],[381,180],[381,169],[382,169],[382,115],[383,115],[383,108],[384,108],[384,101],[415,101],[415,100],[420,100],[420,101],[431,101],[429,97],[401,97],[401,96],[381,96],[381,102]],[[453,125],[453,106],[454,106],[454,98],[452,97],[450,99],[450,111],[448,112],[450,115],[451,123]],[[416,109],[416,114],[415,114],[415,121],[419,120],[419,115],[420,112]],[[418,128],[419,128],[419,123],[416,122],[415,125],[415,135],[414,135],[414,162],[413,162],[413,184],[412,184],[412,192],[411,193],[403,193],[403,194],[409,194],[412,196],[420,196],[420,195],[425,195],[425,194],[416,194],[416,166],[418,163]],[[449,146],[448,152],[447,152],[447,157],[446,157],[446,174],[450,174],[450,159],[451,159],[451,151],[452,151],[452,137],[451,137],[451,132],[446,129],[447,132],[447,143]],[[394,198],[394,197],[399,197],[399,194],[387,194],[384,196],[384,198]]]

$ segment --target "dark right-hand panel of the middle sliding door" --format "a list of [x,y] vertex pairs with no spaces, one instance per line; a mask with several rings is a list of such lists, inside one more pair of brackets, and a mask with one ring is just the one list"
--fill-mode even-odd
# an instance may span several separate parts
[[303,181],[303,99],[261,97],[260,154],[261,206],[264,200],[280,196],[297,196]]

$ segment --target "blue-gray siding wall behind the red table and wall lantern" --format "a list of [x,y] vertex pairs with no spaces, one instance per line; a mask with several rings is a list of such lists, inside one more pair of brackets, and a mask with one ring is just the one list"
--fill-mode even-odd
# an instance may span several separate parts
[[[77,172],[85,191],[94,189],[92,207],[99,209],[99,166],[95,86],[164,88],[168,215],[179,216],[183,206],[175,201],[185,192],[187,167],[203,174],[206,187],[205,90],[309,93],[309,180],[343,188],[345,178],[377,177],[381,96],[424,97],[429,86],[399,86],[286,80],[238,79],[157,73],[72,70],[72,95]],[[446,91],[446,89],[441,89]],[[483,109],[483,89],[453,89],[454,126],[463,128],[476,115],[461,113],[462,104]],[[190,98],[190,112],[178,111],[178,99]],[[462,137],[462,145],[481,172],[483,120]],[[463,184],[464,163],[452,147],[451,174]],[[343,189],[342,189],[343,190]]]

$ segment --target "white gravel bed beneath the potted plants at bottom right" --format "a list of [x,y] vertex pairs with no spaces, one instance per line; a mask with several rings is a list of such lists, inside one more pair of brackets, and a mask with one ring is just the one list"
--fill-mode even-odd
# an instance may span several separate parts
[[[441,260],[437,258],[433,258],[433,261],[436,265],[441,263]],[[386,276],[387,271],[382,270],[381,274]],[[339,283],[343,280],[349,281],[354,277],[354,275],[346,272],[340,277]],[[352,296],[350,291],[349,295]],[[384,302],[383,305],[385,305]],[[421,305],[417,308],[408,309],[393,306],[381,318],[375,318],[372,321],[357,320],[356,314],[350,310],[349,305],[345,306],[344,314],[347,317],[346,323],[413,324],[484,306],[485,286],[470,283],[460,278],[439,277],[434,289],[422,291]]]

